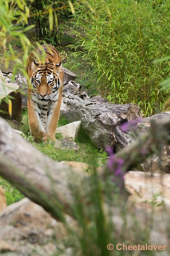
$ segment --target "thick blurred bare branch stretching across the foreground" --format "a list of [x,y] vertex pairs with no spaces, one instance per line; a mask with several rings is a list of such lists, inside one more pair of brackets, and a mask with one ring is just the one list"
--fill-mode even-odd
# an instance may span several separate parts
[[[153,122],[144,136],[119,151],[115,157],[124,160],[124,168],[128,171],[160,149],[160,142],[170,143],[169,119]],[[16,134],[0,118],[0,175],[54,218],[64,221],[61,212],[73,215],[69,185],[88,180],[86,167],[86,164],[82,167],[74,162],[55,162]],[[107,166],[98,172],[102,179],[109,175]]]

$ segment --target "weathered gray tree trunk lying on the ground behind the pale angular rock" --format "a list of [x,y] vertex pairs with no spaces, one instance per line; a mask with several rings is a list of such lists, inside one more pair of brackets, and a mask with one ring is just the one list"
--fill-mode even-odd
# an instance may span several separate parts
[[67,92],[63,97],[65,108],[61,115],[70,122],[81,120],[84,131],[92,143],[105,150],[107,145],[115,144],[115,128],[122,122],[138,118],[137,105],[116,105],[100,96],[81,99]]

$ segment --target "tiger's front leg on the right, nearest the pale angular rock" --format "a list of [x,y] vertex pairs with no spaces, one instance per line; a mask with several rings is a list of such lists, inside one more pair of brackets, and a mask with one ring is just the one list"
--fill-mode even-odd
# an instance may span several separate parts
[[44,142],[46,142],[48,138],[50,142],[55,141],[55,130],[57,128],[58,119],[60,116],[60,109],[61,109],[61,97],[59,97],[57,102],[48,103],[46,134],[43,137]]

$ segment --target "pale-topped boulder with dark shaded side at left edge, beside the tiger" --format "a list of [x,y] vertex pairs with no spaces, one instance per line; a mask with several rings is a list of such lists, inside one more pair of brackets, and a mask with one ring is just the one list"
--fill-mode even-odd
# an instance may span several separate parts
[[[11,74],[12,75],[12,74]],[[3,76],[0,71],[0,99],[5,98],[7,95],[14,97],[12,99],[12,119],[19,120],[22,118],[22,101],[20,92],[15,92],[20,87],[16,83],[12,83],[9,77]],[[8,113],[8,105],[2,101],[0,109],[7,113],[0,113],[0,116],[6,119],[11,119]]]

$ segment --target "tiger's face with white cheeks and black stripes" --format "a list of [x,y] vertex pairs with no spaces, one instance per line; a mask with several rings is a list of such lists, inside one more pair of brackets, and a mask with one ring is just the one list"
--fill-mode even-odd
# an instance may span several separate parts
[[61,62],[57,65],[51,62],[43,65],[33,61],[32,67],[34,72],[30,80],[35,100],[50,102],[58,100],[58,89],[61,87],[61,66]]

